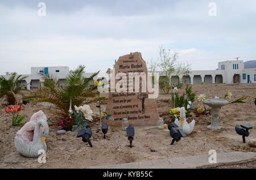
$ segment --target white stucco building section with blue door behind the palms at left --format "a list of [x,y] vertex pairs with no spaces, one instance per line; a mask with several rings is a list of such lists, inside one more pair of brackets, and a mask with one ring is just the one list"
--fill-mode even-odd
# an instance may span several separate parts
[[[41,89],[43,87],[43,79],[40,73],[49,74],[54,78],[59,80],[60,87],[64,87],[66,85],[65,78],[67,78],[69,74],[68,66],[56,66],[56,67],[31,67],[31,74],[24,74],[23,76],[27,76],[26,79],[22,80],[22,84],[24,84],[24,89]],[[88,78],[93,73],[84,73],[84,77]],[[6,78],[10,75],[3,75]],[[97,77],[95,77],[97,79]],[[93,84],[93,82],[92,82]]]

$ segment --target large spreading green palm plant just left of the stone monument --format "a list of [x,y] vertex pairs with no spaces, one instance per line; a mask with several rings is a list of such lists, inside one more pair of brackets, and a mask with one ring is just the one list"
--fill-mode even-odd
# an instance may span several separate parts
[[[49,102],[58,109],[57,115],[59,117],[67,118],[69,117],[70,100],[72,100],[72,108],[74,105],[80,106],[99,100],[96,96],[97,92],[94,91],[96,88],[91,86],[90,82],[100,71],[89,78],[85,78],[83,76],[84,70],[85,66],[80,65],[75,71],[71,71],[65,79],[67,85],[63,88],[60,88],[58,79],[54,76],[41,74],[44,79],[43,88],[32,92],[30,96],[24,97],[24,99],[34,102]],[[74,123],[75,121],[72,118],[68,125],[64,127],[65,130],[71,130]]]

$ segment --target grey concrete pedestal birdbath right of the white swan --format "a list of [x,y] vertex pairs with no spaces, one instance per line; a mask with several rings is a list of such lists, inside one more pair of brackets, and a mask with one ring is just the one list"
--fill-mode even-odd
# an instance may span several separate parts
[[229,104],[227,100],[220,100],[218,97],[214,97],[212,99],[207,99],[203,101],[204,104],[210,106],[212,108],[212,123],[207,126],[210,130],[220,130],[222,127],[219,126],[219,115],[220,108],[224,105]]

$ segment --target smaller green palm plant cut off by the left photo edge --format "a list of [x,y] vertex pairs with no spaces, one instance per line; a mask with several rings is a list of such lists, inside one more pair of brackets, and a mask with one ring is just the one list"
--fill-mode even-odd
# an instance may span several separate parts
[[20,83],[21,80],[26,79],[27,76],[17,75],[16,72],[10,74],[9,78],[4,76],[0,77],[0,98],[6,97],[9,105],[14,105],[17,102],[16,95],[24,91],[22,87],[23,84]]

